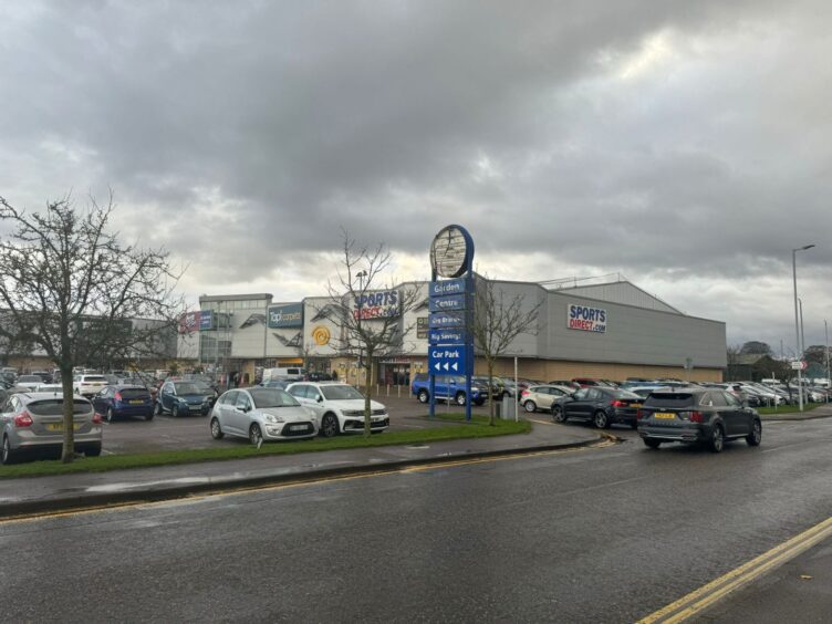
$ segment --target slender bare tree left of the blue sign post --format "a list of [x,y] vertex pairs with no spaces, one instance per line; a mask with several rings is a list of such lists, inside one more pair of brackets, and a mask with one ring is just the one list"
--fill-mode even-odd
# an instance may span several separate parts
[[324,306],[337,327],[334,340],[341,353],[358,357],[364,370],[364,436],[371,435],[370,395],[373,370],[382,358],[403,352],[405,313],[418,302],[418,289],[395,289],[385,281],[391,254],[385,245],[371,249],[356,245],[342,229],[343,258],[336,280],[327,283]]

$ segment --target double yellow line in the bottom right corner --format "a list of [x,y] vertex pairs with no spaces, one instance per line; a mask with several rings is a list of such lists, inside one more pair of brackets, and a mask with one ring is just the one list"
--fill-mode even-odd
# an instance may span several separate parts
[[829,537],[832,537],[832,518],[828,518],[748,563],[743,563],[736,570],[731,570],[707,585],[703,585],[676,602],[659,609],[639,620],[638,624],[685,622],[713,606],[729,593],[782,565]]

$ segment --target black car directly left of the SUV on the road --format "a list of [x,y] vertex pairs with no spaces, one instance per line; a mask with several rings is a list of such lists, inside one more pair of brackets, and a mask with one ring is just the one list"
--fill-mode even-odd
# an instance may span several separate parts
[[606,386],[581,388],[563,396],[552,404],[552,420],[565,423],[569,419],[586,420],[599,429],[614,423],[628,425],[635,429],[638,408],[644,399],[632,392]]

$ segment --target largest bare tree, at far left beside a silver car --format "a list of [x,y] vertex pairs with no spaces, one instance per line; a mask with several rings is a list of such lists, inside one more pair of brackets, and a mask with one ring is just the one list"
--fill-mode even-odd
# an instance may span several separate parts
[[[0,197],[0,337],[43,350],[61,371],[63,450],[74,458],[72,372],[86,358],[149,354],[184,312],[164,250],[122,245],[107,226],[114,210],[65,197],[27,212]],[[152,322],[134,323],[133,319]]]

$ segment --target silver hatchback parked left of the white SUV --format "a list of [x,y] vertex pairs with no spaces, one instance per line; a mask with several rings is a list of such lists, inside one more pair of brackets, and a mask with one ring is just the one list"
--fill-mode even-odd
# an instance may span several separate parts
[[263,441],[312,438],[318,434],[314,413],[280,388],[251,387],[223,393],[211,410],[211,437]]

